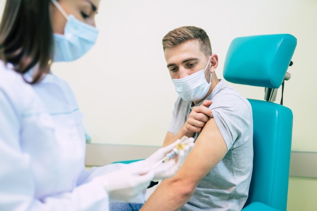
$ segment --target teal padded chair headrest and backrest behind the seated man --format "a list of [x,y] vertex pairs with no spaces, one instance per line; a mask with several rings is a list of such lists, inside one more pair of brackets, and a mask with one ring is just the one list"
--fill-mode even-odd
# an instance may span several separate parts
[[[296,38],[290,34],[235,38],[226,55],[223,76],[233,83],[279,88],[296,44]],[[273,102],[249,101],[254,122],[254,168],[246,205],[261,202],[286,210],[292,111]]]

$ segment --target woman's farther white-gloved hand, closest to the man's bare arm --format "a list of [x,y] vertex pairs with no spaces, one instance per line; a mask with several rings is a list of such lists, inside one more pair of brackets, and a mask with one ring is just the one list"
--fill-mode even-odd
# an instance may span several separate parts
[[[152,169],[154,171],[153,180],[163,180],[173,177],[182,166],[187,154],[193,148],[193,142],[193,138],[184,137],[182,141],[177,140],[166,147],[162,147],[161,149],[150,155],[148,158],[146,158],[143,165],[152,166]],[[160,161],[162,161],[162,159],[166,157],[167,154],[171,153],[178,144],[182,145],[182,149],[178,150],[177,153],[175,153],[175,155],[172,156],[170,159],[167,159],[164,162],[160,163]],[[157,164],[158,162],[160,164]]]

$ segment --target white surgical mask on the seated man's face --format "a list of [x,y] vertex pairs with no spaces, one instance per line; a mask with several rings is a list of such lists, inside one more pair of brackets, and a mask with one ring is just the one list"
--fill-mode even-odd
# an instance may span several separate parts
[[209,62],[210,57],[205,69],[202,69],[183,78],[172,79],[176,92],[183,100],[202,100],[207,95],[211,85],[211,75],[210,81],[207,82],[205,71],[209,65]]

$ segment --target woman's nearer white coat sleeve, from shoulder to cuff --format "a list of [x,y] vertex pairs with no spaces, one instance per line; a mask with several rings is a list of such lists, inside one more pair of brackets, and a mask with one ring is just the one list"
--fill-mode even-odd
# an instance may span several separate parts
[[73,192],[41,200],[35,198],[30,156],[20,147],[20,118],[1,87],[0,102],[0,210],[105,210],[108,195],[96,182],[75,188]]

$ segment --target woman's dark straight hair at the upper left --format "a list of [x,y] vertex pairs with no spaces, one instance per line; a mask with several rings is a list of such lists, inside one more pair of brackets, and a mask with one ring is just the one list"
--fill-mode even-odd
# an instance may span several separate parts
[[50,71],[53,31],[50,0],[7,0],[0,24],[0,59],[21,75],[38,65],[32,81]]

